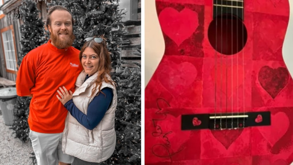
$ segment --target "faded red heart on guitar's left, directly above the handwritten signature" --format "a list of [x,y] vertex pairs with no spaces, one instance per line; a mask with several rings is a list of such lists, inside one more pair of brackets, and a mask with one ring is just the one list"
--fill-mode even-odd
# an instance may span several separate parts
[[171,93],[180,95],[190,88],[190,84],[195,81],[197,69],[188,62],[180,64],[172,61],[162,62],[157,71],[162,85]]

